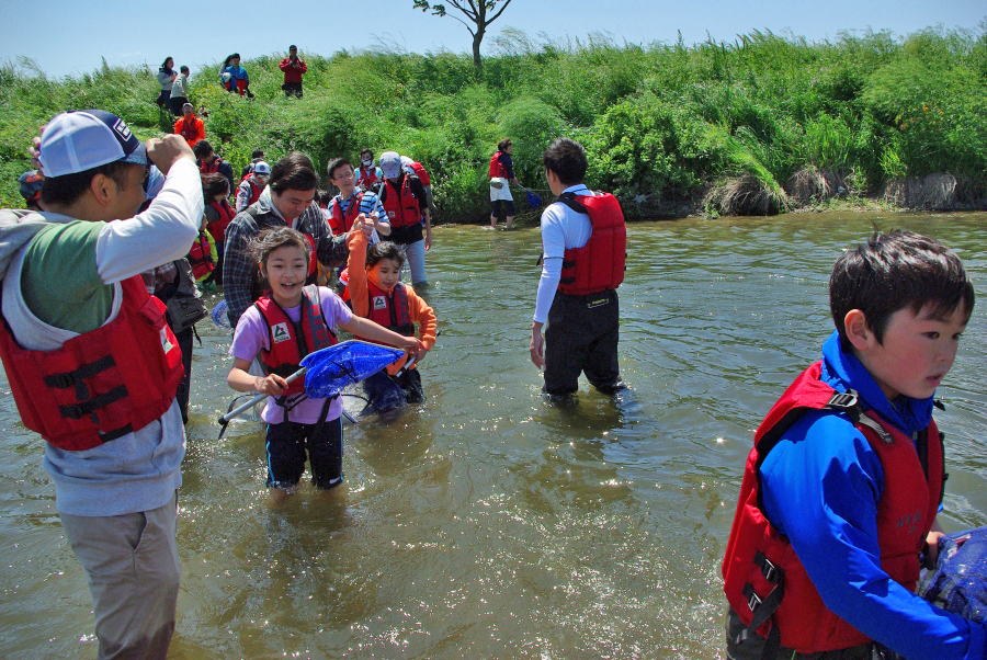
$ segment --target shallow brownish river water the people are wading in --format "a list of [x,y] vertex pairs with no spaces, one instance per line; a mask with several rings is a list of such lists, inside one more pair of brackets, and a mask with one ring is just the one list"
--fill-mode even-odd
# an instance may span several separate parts
[[[612,400],[583,382],[563,408],[527,359],[537,228],[440,227],[427,402],[345,426],[344,489],[305,486],[280,512],[260,424],[216,440],[229,335],[201,322],[170,657],[721,657],[719,560],[753,429],[817,359],[832,263],[875,224],[944,240],[987,293],[985,214],[634,224],[620,289],[632,389]],[[939,392],[949,531],[987,524],[985,309]],[[42,441],[2,387],[0,657],[93,657]]]

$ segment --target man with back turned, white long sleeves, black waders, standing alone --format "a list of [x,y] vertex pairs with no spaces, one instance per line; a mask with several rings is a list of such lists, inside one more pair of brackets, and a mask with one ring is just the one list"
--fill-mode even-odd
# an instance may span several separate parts
[[583,183],[586,152],[576,140],[554,140],[543,162],[558,201],[542,213],[543,265],[531,361],[545,367],[543,389],[551,396],[575,392],[580,372],[597,389],[613,394],[624,388],[616,295],[627,247],[624,214],[613,195],[593,193]]

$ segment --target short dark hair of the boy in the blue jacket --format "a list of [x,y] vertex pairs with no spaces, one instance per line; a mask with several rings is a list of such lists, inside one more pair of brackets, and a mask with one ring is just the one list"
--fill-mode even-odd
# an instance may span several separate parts
[[844,351],[851,349],[843,326],[851,309],[864,312],[867,328],[882,342],[896,311],[908,307],[918,314],[931,305],[933,318],[944,318],[962,305],[968,321],[974,299],[973,282],[955,252],[901,229],[877,231],[855,250],[843,252],[829,277],[829,309]]

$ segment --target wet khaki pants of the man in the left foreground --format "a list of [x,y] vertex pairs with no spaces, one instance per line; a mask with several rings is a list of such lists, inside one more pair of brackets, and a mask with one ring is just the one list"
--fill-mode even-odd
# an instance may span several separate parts
[[179,590],[177,503],[175,494],[139,513],[61,514],[65,536],[89,578],[100,660],[168,653]]

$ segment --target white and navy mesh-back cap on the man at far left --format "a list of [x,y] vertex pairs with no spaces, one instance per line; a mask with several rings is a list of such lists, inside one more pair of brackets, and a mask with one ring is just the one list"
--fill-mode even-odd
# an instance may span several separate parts
[[144,143],[123,120],[102,110],[56,115],[42,132],[39,150],[45,177],[76,174],[117,160],[148,164]]

